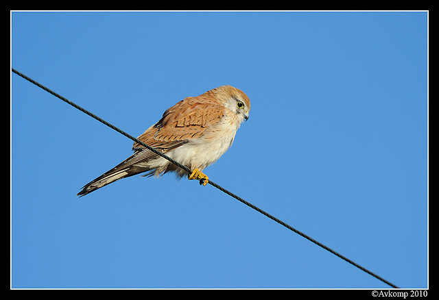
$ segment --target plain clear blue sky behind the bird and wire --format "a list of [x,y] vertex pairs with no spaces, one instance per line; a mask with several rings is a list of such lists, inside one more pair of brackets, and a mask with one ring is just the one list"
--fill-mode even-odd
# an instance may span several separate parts
[[[11,64],[138,136],[230,84],[214,182],[403,288],[428,286],[427,12],[12,12]],[[388,288],[11,73],[12,288]]]

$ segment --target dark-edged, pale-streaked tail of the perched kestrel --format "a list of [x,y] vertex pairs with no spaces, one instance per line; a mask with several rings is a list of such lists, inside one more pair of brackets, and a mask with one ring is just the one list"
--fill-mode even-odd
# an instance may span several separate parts
[[135,166],[133,164],[127,164],[127,162],[129,162],[129,160],[133,156],[121,162],[120,164],[118,164],[111,170],[107,171],[106,173],[100,175],[96,179],[93,179],[91,182],[88,182],[88,184],[83,186],[82,190],[78,192],[76,196],[79,197],[85,196],[93,192],[94,190],[97,190],[98,188],[102,188],[102,186],[111,184],[112,182],[115,182],[119,179],[130,177],[148,171],[147,168],[142,168],[139,166]]

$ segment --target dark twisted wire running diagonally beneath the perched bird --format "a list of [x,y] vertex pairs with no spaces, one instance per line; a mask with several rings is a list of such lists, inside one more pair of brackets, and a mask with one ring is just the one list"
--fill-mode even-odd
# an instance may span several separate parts
[[[80,105],[77,105],[75,103],[73,103],[72,101],[70,101],[69,99],[66,99],[64,97],[62,97],[61,95],[58,95],[56,92],[54,92],[53,90],[50,90],[49,88],[46,88],[45,86],[43,86],[42,84],[39,84],[38,82],[34,81],[33,79],[27,77],[26,75],[24,75],[23,73],[20,73],[19,71],[16,71],[14,68],[12,68],[12,72],[16,73],[17,75],[23,77],[24,79],[26,79],[29,82],[32,82],[32,84],[35,84],[36,86],[43,88],[43,90],[49,92],[51,95],[54,95],[55,97],[58,97],[59,99],[61,99],[62,101],[69,103],[70,105],[72,105],[74,108],[77,108],[78,110],[80,110],[81,112],[84,112],[85,114],[88,114],[88,116],[91,116],[92,118],[95,118],[97,121],[103,123],[104,125],[107,125],[108,127],[110,127],[111,129],[114,129],[115,131],[119,132],[119,134],[123,134],[123,136],[126,136],[127,138],[130,138],[130,140],[133,140],[134,142],[139,143],[140,145],[142,145],[143,147],[149,149],[150,151],[156,153],[157,155],[160,155],[161,157],[165,158],[166,160],[169,160],[169,162],[176,164],[176,166],[179,166],[180,168],[184,169],[185,171],[187,171],[188,173],[191,173],[191,170],[187,167],[187,166],[183,166],[182,164],[180,164],[179,162],[176,162],[175,160],[169,158],[167,155],[161,153],[160,151],[146,145],[144,142],[141,142],[141,140],[138,140],[137,138],[134,138],[134,136],[131,136],[130,134],[127,134],[126,132],[123,132],[123,130],[115,127],[114,125],[111,125],[110,123],[108,123],[107,121],[103,120],[102,118],[99,118],[99,116],[96,116],[95,114],[92,114],[91,112],[88,112],[88,110],[85,110],[84,108],[80,107]],[[201,181],[200,181],[201,184]],[[323,245],[321,242],[318,242],[317,240],[314,240],[313,238],[311,238],[310,236],[307,236],[306,234],[298,231],[298,229],[295,229],[294,227],[291,227],[290,225],[288,225],[287,223],[279,220],[278,218],[272,216],[271,214],[269,214],[268,212],[265,212],[263,210],[261,210],[260,208],[258,208],[257,206],[253,205],[252,203],[242,199],[241,197],[233,194],[233,192],[230,192],[228,190],[226,190],[225,188],[223,188],[222,186],[219,186],[218,184],[215,184],[215,182],[212,182],[211,179],[209,179],[209,184],[211,184],[211,186],[214,186],[215,188],[217,188],[218,190],[221,190],[222,192],[225,192],[227,195],[229,195],[230,197],[233,197],[235,199],[237,199],[238,201],[240,201],[241,203],[244,203],[245,205],[247,205],[248,207],[256,210],[257,212],[260,212],[261,214],[263,214],[264,216],[267,216],[268,218],[271,218],[273,221],[276,221],[277,223],[283,225],[284,227],[286,227],[287,229],[291,230],[292,232],[295,232],[296,234],[298,234],[299,236],[302,236],[303,238],[306,238],[307,240],[313,242],[314,244],[322,247],[323,249],[333,253],[334,255],[336,255],[337,257],[341,258],[342,260],[345,260],[346,262],[352,264],[353,266],[356,266],[357,268],[359,268],[361,271],[364,271],[366,273],[368,273],[369,275],[372,275],[373,277],[381,280],[381,282],[384,282],[385,284],[388,284],[389,286],[392,286],[392,288],[398,288],[398,286],[395,286],[394,284],[388,282],[387,280],[383,279],[383,277],[380,277],[379,275],[372,273],[371,271],[369,271],[367,268],[364,268],[363,266],[360,266],[359,264],[357,264],[356,262],[353,262],[352,260],[344,257],[343,255],[341,255],[340,253],[337,253],[336,251],[334,251],[333,249]]]

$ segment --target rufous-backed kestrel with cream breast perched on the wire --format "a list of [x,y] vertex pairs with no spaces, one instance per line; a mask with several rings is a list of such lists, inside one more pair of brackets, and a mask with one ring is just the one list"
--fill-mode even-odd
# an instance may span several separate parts
[[134,142],[133,155],[86,184],[78,196],[144,172],[144,176],[156,177],[175,172],[178,177],[198,179],[205,186],[209,178],[202,171],[232,145],[249,111],[250,99],[233,86],[219,86],[198,97],[187,97],[167,109],[160,121],[138,139],[187,166],[191,174]]

